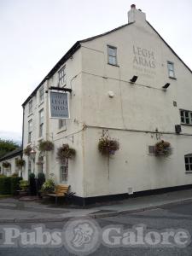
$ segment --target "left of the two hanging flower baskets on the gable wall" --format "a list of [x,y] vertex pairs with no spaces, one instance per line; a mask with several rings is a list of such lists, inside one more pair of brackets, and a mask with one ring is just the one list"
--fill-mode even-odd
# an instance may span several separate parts
[[102,137],[99,140],[98,149],[103,155],[113,155],[119,150],[119,142],[110,137]]

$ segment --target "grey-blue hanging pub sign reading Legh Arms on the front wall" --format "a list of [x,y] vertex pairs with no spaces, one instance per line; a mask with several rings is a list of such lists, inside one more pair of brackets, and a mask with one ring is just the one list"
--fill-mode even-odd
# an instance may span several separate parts
[[68,94],[49,90],[49,117],[51,119],[69,119]]

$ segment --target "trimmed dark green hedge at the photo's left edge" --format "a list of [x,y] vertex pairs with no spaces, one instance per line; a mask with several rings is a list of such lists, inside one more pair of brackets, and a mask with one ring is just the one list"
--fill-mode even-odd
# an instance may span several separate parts
[[0,195],[15,195],[22,177],[0,177]]

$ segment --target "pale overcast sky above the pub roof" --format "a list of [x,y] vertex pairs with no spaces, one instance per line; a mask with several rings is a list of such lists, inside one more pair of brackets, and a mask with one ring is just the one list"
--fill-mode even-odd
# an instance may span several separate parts
[[76,41],[127,23],[132,3],[192,69],[191,0],[0,0],[0,138],[21,141],[27,96]]

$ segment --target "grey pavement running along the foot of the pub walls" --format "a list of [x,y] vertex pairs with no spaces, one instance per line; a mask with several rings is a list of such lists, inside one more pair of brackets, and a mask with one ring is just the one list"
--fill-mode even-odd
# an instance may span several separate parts
[[131,212],[143,212],[163,206],[192,203],[192,189],[132,197],[123,201],[106,202],[89,207],[50,205],[42,201],[19,201],[16,198],[0,199],[0,223],[60,222],[70,218],[105,218]]

